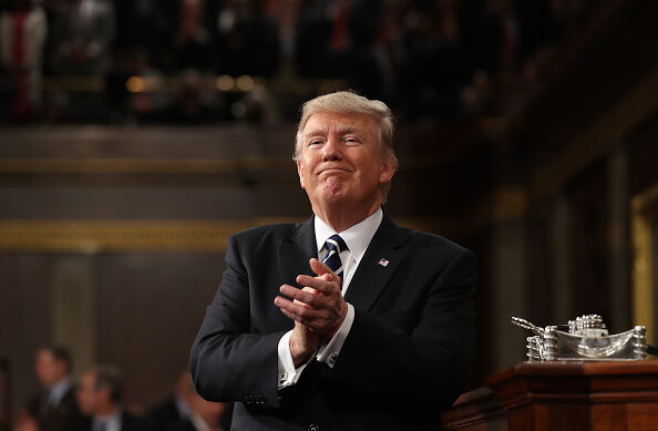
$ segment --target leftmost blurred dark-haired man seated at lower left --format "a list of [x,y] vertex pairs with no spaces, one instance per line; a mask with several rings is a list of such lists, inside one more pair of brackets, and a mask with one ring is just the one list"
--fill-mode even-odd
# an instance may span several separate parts
[[71,356],[64,347],[49,346],[37,351],[34,370],[43,390],[19,414],[18,430],[69,431],[80,419],[71,369]]

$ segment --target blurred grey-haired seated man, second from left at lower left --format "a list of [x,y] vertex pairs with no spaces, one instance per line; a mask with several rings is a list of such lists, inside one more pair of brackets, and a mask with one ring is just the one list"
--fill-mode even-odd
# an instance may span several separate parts
[[88,414],[74,431],[142,431],[144,422],[122,407],[123,381],[113,366],[97,366],[80,378],[78,403]]

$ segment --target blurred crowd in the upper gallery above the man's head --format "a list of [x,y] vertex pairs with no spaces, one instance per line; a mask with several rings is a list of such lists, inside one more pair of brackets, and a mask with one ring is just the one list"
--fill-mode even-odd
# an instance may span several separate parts
[[592,3],[2,0],[1,117],[276,123],[347,88],[401,121],[500,111]]

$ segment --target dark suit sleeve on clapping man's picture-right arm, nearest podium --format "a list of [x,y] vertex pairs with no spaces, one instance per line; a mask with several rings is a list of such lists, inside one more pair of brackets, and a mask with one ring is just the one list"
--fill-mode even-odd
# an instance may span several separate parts
[[[475,343],[474,281],[475,258],[461,248],[429,283],[410,331],[357,309],[330,377],[378,397],[450,406],[470,373]],[[395,288],[404,291],[418,286]]]

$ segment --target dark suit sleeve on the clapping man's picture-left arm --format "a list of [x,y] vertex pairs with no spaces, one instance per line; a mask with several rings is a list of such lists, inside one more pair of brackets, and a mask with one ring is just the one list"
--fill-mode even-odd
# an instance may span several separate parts
[[228,240],[226,265],[192,347],[195,388],[209,401],[278,407],[277,345],[284,332],[249,333],[249,277],[234,237]]

